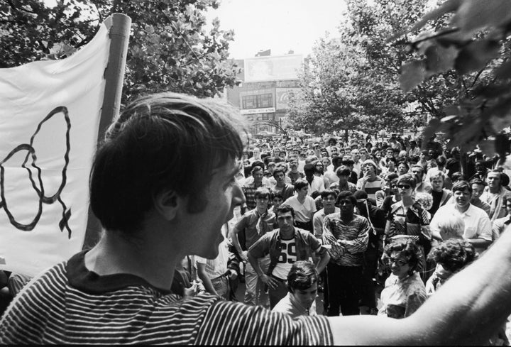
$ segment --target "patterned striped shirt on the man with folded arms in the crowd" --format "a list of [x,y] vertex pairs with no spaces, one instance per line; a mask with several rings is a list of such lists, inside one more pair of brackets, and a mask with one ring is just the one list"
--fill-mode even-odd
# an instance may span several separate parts
[[330,261],[341,266],[363,266],[363,253],[369,241],[370,226],[363,216],[353,214],[353,219],[345,224],[341,213],[326,215],[323,220],[323,229],[328,229],[336,239],[344,241],[346,253],[339,259]]

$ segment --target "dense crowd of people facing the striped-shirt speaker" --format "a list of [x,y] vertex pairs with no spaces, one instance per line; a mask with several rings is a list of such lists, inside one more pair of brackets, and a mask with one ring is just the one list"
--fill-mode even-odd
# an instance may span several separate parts
[[[294,316],[410,316],[511,224],[510,167],[434,137],[370,140],[251,141],[237,177],[246,202],[219,256],[185,257],[172,290]],[[0,280],[13,296],[29,278]],[[489,343],[508,344],[505,327]]]

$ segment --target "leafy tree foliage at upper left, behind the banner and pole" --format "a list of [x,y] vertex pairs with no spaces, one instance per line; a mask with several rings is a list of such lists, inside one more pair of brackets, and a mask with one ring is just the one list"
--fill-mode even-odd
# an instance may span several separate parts
[[231,31],[219,21],[209,33],[204,10],[216,0],[187,1],[9,1],[0,7],[0,67],[13,67],[44,58],[60,58],[94,37],[110,13],[130,16],[132,30],[126,60],[123,99],[174,91],[212,97],[238,83],[237,67],[228,60]]

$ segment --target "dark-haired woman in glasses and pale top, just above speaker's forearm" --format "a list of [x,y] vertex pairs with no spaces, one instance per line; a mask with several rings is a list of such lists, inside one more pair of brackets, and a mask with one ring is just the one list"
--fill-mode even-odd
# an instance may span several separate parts
[[420,248],[410,239],[396,239],[385,247],[383,259],[392,274],[385,281],[379,316],[405,318],[426,301],[426,289],[417,272]]

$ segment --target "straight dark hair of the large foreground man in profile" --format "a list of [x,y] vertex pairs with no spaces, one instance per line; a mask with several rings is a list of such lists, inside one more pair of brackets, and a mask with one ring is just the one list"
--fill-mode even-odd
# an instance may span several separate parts
[[92,211],[106,230],[135,233],[164,189],[204,210],[211,172],[243,155],[239,111],[216,99],[153,94],[126,106],[97,151],[89,180]]

